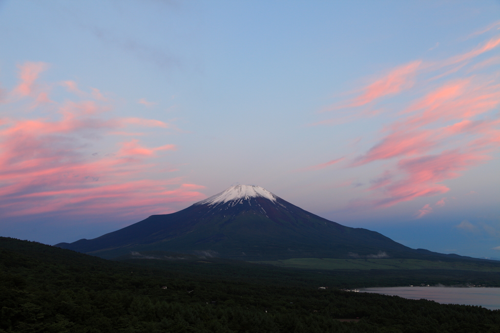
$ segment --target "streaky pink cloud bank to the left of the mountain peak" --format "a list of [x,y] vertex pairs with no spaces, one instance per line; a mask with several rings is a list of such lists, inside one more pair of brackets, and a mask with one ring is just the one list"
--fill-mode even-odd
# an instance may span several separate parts
[[[111,116],[113,105],[100,91],[86,93],[72,81],[62,84],[72,93],[71,99],[50,100],[48,91],[33,93],[47,65],[29,62],[19,67],[21,82],[10,94],[25,97],[24,107],[29,107],[44,93],[45,99],[38,102],[50,102],[50,108],[22,116],[5,111],[0,118],[1,218],[143,217],[171,212],[176,203],[205,197],[199,192],[203,186],[154,174],[155,158],[174,151],[174,144],[151,147],[135,137],[123,141],[115,134],[129,127],[171,128],[170,124]],[[4,101],[0,108],[7,110],[9,103]],[[105,152],[92,153],[95,146]]]

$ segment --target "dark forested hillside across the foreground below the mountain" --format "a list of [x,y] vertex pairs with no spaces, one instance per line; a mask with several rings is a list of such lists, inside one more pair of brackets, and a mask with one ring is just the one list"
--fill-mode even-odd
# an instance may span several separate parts
[[309,275],[265,281],[207,278],[0,237],[0,332],[500,332],[497,310],[318,290]]

